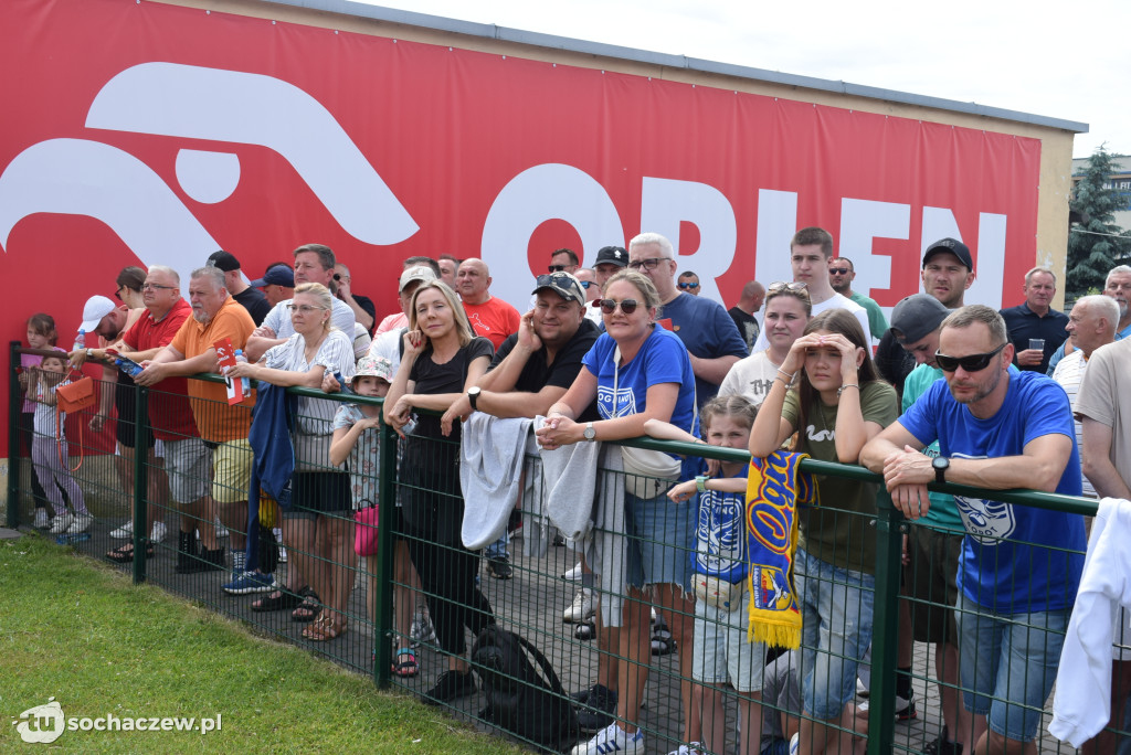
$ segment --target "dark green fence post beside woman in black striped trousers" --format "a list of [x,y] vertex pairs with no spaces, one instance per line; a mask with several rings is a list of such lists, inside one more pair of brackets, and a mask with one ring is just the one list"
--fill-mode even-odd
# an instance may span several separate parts
[[377,529],[377,596],[373,616],[373,679],[379,687],[388,687],[392,665],[392,549],[396,546],[396,532],[390,523],[395,520],[397,505],[397,441],[398,436],[390,425],[381,422],[380,450],[380,514]]

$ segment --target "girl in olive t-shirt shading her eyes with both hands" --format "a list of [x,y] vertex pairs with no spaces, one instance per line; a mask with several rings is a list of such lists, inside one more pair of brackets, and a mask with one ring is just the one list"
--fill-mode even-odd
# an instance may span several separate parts
[[[861,449],[896,420],[896,391],[881,380],[856,318],[813,318],[777,371],[750,434],[765,458],[797,433],[795,449],[822,461],[857,463]],[[802,697],[797,752],[837,752],[837,721],[856,693],[856,668],[872,641],[875,483],[814,477],[819,504],[797,511],[794,588],[802,615]],[[847,743],[843,743],[849,746]],[[840,752],[848,752],[841,748]]]

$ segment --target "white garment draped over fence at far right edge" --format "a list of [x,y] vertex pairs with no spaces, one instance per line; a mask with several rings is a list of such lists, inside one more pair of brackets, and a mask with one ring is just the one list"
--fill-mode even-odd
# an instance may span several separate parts
[[[1073,747],[1111,718],[1112,646],[1120,607],[1131,607],[1131,502],[1104,498],[1091,524],[1083,575],[1061,650],[1048,732]],[[1126,628],[1126,627],[1122,627]],[[1122,633],[1121,633],[1122,634]]]

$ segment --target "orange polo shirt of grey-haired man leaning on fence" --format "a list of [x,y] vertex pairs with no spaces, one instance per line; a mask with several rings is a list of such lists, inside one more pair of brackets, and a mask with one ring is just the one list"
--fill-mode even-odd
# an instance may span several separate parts
[[[222,338],[231,338],[234,348],[243,348],[254,329],[256,323],[248,311],[228,296],[207,326],[192,316],[185,320],[170,346],[185,358],[200,356]],[[251,407],[256,403],[253,398],[248,398],[238,406],[228,406],[224,383],[190,380],[189,401],[192,403],[192,416],[197,420],[200,437],[213,443],[248,439],[251,431]]]

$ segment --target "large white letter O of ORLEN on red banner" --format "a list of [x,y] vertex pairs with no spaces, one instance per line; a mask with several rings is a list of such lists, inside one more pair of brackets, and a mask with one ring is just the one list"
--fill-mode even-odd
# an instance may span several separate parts
[[[507,182],[483,222],[480,257],[494,279],[491,293],[526,311],[530,301],[527,246],[535,228],[546,220],[564,220],[581,237],[585,267],[597,250],[624,244],[624,228],[605,188],[572,165],[549,163],[528,167]],[[550,261],[549,250],[545,255]]]

